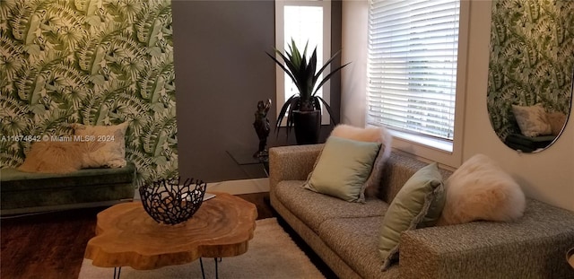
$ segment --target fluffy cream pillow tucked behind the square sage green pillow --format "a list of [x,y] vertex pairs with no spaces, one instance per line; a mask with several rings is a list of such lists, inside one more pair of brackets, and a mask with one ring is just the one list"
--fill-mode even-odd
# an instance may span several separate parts
[[391,154],[392,135],[390,135],[387,129],[383,126],[362,128],[346,124],[335,126],[331,135],[354,141],[381,144],[377,158],[373,163],[373,168],[370,171],[369,179],[367,179],[363,189],[361,190],[361,192],[364,192],[365,196],[377,196],[380,181],[382,179],[382,170],[385,166],[385,161],[387,161]]

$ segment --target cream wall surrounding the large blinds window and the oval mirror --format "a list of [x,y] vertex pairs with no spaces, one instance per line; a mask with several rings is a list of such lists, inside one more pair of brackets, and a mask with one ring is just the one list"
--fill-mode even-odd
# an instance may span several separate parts
[[[365,124],[368,9],[368,1],[343,3],[343,60],[352,61],[353,66],[342,74],[341,120],[356,126]],[[542,153],[517,153],[491,128],[486,108],[490,20],[491,1],[472,1],[463,161],[476,153],[486,154],[517,179],[526,196],[574,211],[574,114],[570,113],[569,124],[558,141]]]

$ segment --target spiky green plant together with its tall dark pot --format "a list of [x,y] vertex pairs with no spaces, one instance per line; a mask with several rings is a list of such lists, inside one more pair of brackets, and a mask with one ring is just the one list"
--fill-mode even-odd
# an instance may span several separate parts
[[291,127],[294,127],[297,144],[317,144],[321,128],[321,104],[329,113],[332,123],[335,124],[331,107],[323,98],[317,96],[317,91],[333,77],[333,74],[340,71],[345,65],[349,65],[349,63],[338,66],[331,73],[326,74],[323,79],[319,80],[326,67],[333,62],[341,51],[335,53],[317,71],[317,48],[313,50],[308,60],[307,44],[302,54],[293,39],[291,39],[291,45],[288,47],[289,51],[285,52],[284,55],[281,51],[275,49],[275,52],[282,58],[284,65],[277,58],[267,53],[291,77],[299,91],[299,93],[293,94],[283,103],[283,107],[277,116],[275,131],[279,133],[283,118],[287,114],[287,136],[289,136]]

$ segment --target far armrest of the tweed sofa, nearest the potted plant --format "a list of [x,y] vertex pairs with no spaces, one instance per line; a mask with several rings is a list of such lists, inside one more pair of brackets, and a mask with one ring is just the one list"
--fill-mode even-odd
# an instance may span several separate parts
[[283,180],[305,180],[325,144],[289,145],[269,149],[269,187]]

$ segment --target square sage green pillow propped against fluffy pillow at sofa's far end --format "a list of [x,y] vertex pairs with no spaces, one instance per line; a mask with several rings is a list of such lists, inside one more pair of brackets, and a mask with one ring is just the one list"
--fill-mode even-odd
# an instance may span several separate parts
[[361,201],[361,187],[369,179],[380,145],[329,136],[304,187],[348,202]]

